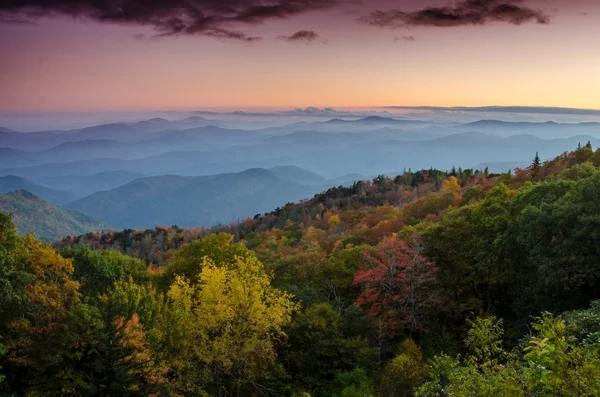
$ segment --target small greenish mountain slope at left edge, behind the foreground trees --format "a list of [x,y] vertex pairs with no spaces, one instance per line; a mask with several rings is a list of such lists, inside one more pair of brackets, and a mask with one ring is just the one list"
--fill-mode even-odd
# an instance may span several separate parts
[[13,214],[20,234],[35,232],[44,241],[106,228],[106,225],[82,213],[57,207],[27,190],[1,194],[0,212]]

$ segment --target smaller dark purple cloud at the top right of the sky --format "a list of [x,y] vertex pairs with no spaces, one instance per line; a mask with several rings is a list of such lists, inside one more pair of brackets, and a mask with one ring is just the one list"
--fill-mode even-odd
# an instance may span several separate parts
[[399,9],[375,11],[360,22],[387,28],[411,26],[454,27],[503,22],[547,24],[550,17],[541,10],[522,4],[522,0],[462,0],[454,7],[427,7],[407,12]]

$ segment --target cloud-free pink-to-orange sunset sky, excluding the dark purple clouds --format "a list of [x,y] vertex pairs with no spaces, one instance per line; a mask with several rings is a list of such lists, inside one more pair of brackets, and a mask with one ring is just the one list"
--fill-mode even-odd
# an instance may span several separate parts
[[[539,6],[551,23],[387,29],[357,23],[360,10],[308,12],[244,26],[264,37],[252,43],[153,39],[147,26],[66,17],[0,24],[0,111],[600,109],[600,6],[583,0]],[[278,39],[301,29],[327,42]]]

